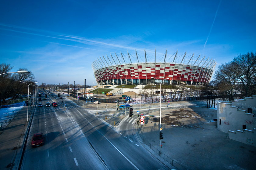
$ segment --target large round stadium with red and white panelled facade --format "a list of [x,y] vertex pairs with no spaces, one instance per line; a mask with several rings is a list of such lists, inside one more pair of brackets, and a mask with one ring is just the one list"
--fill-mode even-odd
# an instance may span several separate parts
[[[187,53],[178,56],[178,51],[171,57],[167,57],[167,50],[162,56],[163,62],[156,62],[156,51],[155,62],[147,61],[146,51],[143,53],[145,57],[143,62],[139,62],[137,51],[135,51],[135,58],[129,52],[127,55],[115,53],[113,56],[112,54],[103,56],[93,62],[92,68],[98,84],[146,85],[159,84],[164,80],[165,84],[183,82],[201,85],[210,81],[216,65],[216,62],[209,57],[194,56],[194,54],[187,56]],[[131,58],[136,61],[132,62]]]

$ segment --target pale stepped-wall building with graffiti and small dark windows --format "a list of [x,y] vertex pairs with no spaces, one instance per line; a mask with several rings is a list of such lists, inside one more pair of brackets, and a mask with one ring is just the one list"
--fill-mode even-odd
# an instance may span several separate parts
[[256,146],[256,95],[218,102],[218,129],[229,138]]

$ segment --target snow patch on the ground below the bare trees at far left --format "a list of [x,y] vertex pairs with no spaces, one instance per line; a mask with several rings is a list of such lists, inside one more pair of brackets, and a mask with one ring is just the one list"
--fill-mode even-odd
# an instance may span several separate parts
[[12,121],[14,116],[23,108],[20,107],[4,107],[0,109],[0,124],[2,124],[2,128],[8,126],[8,124]]

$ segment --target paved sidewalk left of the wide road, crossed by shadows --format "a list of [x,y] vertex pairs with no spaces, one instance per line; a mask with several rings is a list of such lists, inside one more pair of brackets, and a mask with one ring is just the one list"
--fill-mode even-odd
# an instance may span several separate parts
[[20,153],[27,127],[27,106],[23,107],[0,134],[0,169],[10,169],[17,153]]

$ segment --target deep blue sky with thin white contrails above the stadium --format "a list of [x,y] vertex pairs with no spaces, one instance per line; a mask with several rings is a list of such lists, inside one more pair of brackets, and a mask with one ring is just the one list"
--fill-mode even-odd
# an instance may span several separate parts
[[[135,49],[203,55],[218,64],[256,45],[256,2],[1,1],[1,63],[46,84],[95,82],[92,62]],[[160,60],[160,59],[159,59]]]

